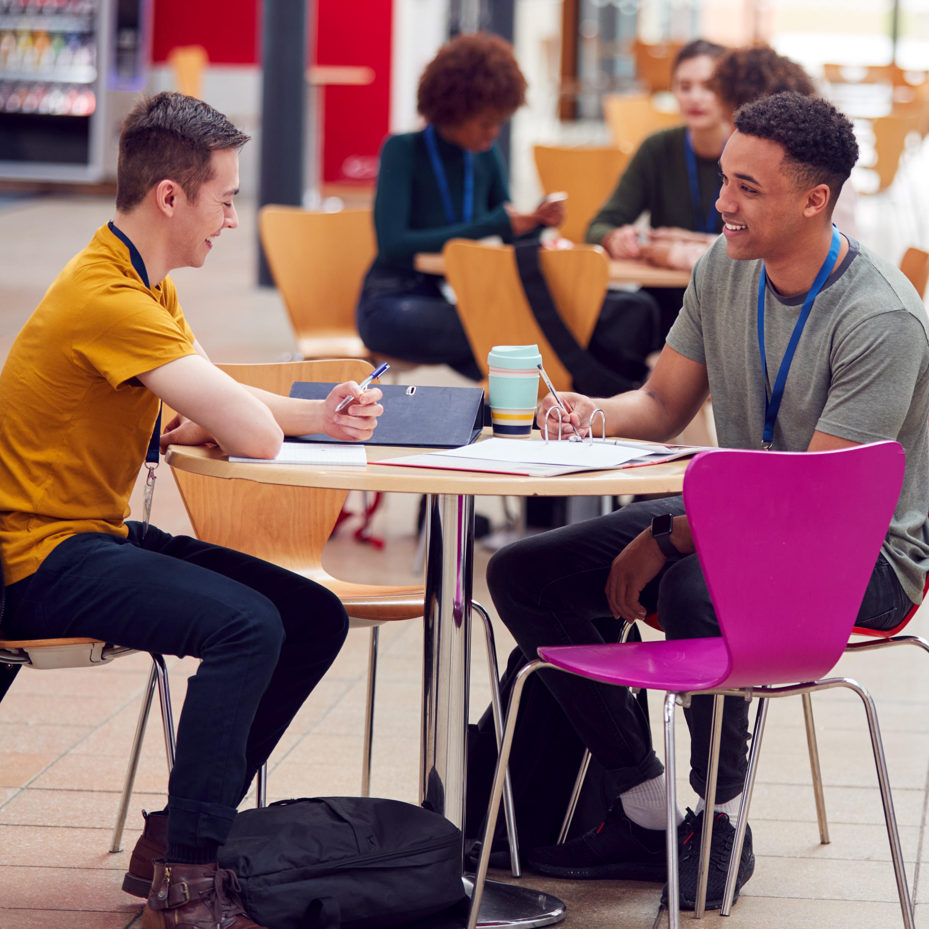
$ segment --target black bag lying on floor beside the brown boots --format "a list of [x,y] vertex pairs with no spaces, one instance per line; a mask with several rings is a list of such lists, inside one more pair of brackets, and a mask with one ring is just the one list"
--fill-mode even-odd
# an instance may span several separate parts
[[387,929],[458,903],[462,835],[437,813],[374,797],[243,810],[219,849],[268,929]]

